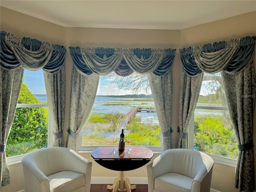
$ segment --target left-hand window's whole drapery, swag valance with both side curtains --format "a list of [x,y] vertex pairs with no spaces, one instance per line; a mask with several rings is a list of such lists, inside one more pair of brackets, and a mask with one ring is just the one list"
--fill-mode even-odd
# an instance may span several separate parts
[[63,146],[65,75],[64,46],[1,32],[0,66],[0,167],[1,185],[10,184],[6,143],[14,120],[24,68],[43,69],[54,139],[52,146]]

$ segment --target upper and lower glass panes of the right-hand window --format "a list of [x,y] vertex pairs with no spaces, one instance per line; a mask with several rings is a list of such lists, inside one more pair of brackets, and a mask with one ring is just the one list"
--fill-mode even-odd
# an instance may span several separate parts
[[228,110],[222,109],[227,107],[222,85],[220,73],[204,74],[194,112],[194,149],[236,159],[236,136]]

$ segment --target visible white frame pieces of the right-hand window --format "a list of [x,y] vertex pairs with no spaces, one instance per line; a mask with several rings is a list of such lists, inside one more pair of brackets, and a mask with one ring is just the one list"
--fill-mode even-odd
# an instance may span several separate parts
[[[196,109],[208,109],[208,110],[227,110],[229,111],[228,107],[213,107],[213,106],[196,106]],[[190,129],[189,129],[189,137],[188,137],[188,148],[194,150],[194,113],[192,114],[192,118],[190,121]],[[237,160],[232,158],[227,158],[224,156],[218,156],[214,154],[208,154],[214,162],[219,164],[224,164],[232,167],[236,167]]]

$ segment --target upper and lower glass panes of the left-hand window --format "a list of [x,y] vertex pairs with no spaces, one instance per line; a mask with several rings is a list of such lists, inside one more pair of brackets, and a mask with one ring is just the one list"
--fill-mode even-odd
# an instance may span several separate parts
[[26,154],[48,143],[48,107],[24,107],[19,104],[47,103],[42,70],[24,71],[14,122],[6,145],[6,156]]

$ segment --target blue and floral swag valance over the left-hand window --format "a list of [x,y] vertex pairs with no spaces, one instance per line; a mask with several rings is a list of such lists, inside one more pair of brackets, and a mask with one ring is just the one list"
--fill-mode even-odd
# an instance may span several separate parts
[[55,73],[64,64],[66,48],[28,37],[21,38],[1,31],[1,67],[12,70],[24,67],[31,71],[43,69]]

